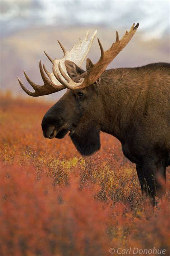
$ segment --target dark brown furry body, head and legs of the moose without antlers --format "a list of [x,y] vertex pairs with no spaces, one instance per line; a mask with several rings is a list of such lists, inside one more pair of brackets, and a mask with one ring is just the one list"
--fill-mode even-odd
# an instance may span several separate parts
[[[66,68],[75,82],[86,75],[76,65]],[[169,74],[167,63],[105,70],[95,84],[67,90],[44,116],[44,136],[53,138],[51,127],[58,131],[56,138],[70,131],[77,150],[90,155],[100,149],[100,131],[112,134],[136,164],[142,193],[155,200],[165,192],[159,178],[165,180],[170,165]]]

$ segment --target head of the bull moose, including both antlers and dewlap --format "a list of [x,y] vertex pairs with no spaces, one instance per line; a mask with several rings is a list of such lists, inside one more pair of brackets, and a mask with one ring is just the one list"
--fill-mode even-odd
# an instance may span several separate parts
[[49,73],[44,65],[42,68],[40,61],[39,68],[43,85],[33,83],[24,71],[27,81],[32,85],[35,92],[30,92],[25,88],[18,78],[22,89],[34,97],[68,89],[43,117],[42,130],[45,138],[62,139],[70,131],[69,136],[82,155],[91,155],[100,149],[100,131],[110,133],[108,126],[109,122],[112,122],[109,119],[107,108],[107,102],[112,100],[108,86],[112,84],[110,85],[109,74],[105,75],[104,71],[131,40],[138,25],[139,23],[136,26],[133,24],[121,40],[119,40],[117,32],[115,43],[107,51],[103,50],[98,39],[101,50],[100,59],[96,64],[87,59],[86,71],[81,68],[81,64],[91,47],[96,31],[89,41],[87,41],[87,32],[85,38],[80,39],[70,52],[66,51],[59,42],[64,53],[63,59],[53,60],[45,52],[53,64],[53,72]]

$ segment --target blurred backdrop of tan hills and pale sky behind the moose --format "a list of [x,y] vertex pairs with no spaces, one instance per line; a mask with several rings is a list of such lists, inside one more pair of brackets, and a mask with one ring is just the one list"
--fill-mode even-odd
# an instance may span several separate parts
[[[24,77],[24,69],[35,83],[43,84],[39,60],[52,70],[43,50],[52,59],[61,58],[62,50],[57,39],[70,50],[87,30],[89,36],[95,29],[98,31],[88,54],[96,62],[100,57],[97,37],[106,50],[115,41],[116,30],[121,37],[133,23],[140,23],[131,42],[108,68],[169,62],[169,4],[169,1],[1,0],[1,91],[30,97],[20,88],[16,76],[31,89]],[[41,99],[55,100],[62,94],[63,91]]]

